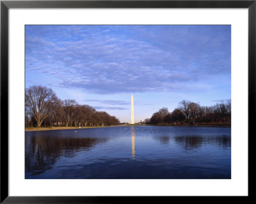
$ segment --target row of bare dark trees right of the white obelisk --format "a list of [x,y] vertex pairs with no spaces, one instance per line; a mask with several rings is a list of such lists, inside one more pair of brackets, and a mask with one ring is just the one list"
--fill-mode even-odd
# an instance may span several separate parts
[[182,100],[172,112],[162,107],[145,120],[145,123],[152,125],[220,122],[231,122],[231,100],[223,100],[214,106],[200,106],[199,103]]

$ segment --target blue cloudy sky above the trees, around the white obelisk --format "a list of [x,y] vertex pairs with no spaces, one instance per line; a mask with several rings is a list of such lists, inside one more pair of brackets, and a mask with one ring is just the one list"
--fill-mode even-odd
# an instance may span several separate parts
[[231,26],[26,26],[26,87],[131,122],[231,98]]

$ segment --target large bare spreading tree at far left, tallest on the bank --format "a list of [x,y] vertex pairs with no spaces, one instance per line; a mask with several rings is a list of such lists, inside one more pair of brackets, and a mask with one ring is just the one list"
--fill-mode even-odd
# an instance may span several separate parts
[[51,88],[40,85],[26,88],[25,106],[33,113],[37,127],[41,127],[42,122],[49,116],[52,106],[57,101],[58,97]]

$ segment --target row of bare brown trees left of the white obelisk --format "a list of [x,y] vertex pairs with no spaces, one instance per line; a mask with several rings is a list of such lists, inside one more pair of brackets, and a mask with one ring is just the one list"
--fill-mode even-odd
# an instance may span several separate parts
[[26,125],[41,127],[108,126],[120,121],[105,111],[96,111],[92,106],[81,105],[73,99],[61,100],[51,88],[30,86],[25,91]]

